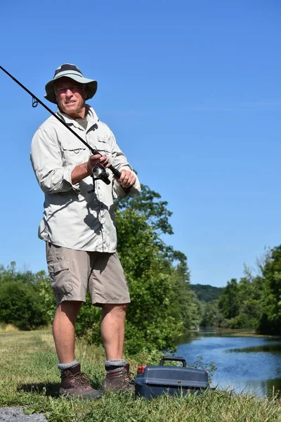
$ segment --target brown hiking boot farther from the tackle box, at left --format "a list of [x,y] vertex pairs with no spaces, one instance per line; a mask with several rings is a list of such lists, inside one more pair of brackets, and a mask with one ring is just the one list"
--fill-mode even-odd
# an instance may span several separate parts
[[100,399],[103,393],[93,389],[89,376],[81,372],[80,364],[76,364],[62,371],[60,395],[80,397],[81,399]]

